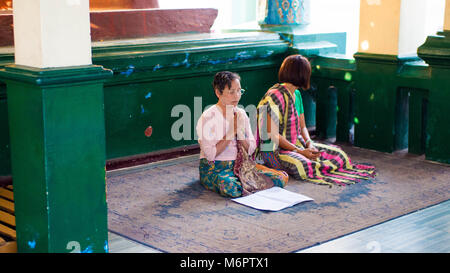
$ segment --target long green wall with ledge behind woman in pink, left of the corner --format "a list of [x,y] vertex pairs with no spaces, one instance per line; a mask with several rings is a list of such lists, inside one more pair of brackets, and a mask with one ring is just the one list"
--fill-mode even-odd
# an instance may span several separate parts
[[[179,36],[177,36],[179,37]],[[104,110],[107,159],[121,158],[197,144],[194,123],[217,99],[211,83],[218,71],[241,76],[247,90],[240,104],[257,105],[277,81],[277,71],[288,50],[278,34],[229,33],[104,42],[93,45],[93,63],[114,72],[105,82]],[[0,68],[13,62],[0,54]],[[202,108],[195,111],[194,98]],[[173,140],[171,129],[182,116],[176,105],[190,109],[190,138]],[[6,87],[0,83],[0,176],[11,173]],[[150,137],[144,134],[152,126]]]

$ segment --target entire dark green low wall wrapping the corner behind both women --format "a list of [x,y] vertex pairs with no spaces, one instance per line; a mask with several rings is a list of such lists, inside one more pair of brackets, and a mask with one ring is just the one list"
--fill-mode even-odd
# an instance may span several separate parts
[[[107,159],[196,144],[193,125],[200,111],[194,111],[194,98],[201,98],[203,109],[216,102],[211,88],[216,72],[238,72],[247,90],[241,104],[256,105],[277,81],[283,58],[302,53],[312,54],[313,68],[312,89],[302,91],[306,123],[316,127],[320,137],[347,142],[355,126],[356,146],[383,152],[408,147],[411,153],[425,152],[427,159],[449,163],[446,37],[430,39],[419,49],[431,65],[418,58],[363,53],[349,59],[339,54],[341,47],[334,46],[331,53],[328,47],[306,50],[301,37],[284,41],[273,33],[96,43],[93,63],[114,72],[104,88]],[[0,54],[0,67],[12,62],[13,54]],[[172,139],[172,125],[181,118],[171,114],[176,105],[191,110],[191,139]],[[153,128],[150,137],[144,135],[148,126]],[[0,176],[11,173],[8,128],[5,86],[0,83]]]

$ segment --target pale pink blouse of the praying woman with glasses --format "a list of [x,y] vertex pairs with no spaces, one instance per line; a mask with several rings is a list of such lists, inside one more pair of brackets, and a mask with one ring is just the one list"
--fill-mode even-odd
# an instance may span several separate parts
[[[238,107],[236,109],[244,120],[245,140],[248,140],[248,154],[251,155],[256,149],[256,140],[250,127],[250,119],[244,109]],[[233,126],[233,123],[225,119],[222,110],[217,105],[211,106],[202,113],[196,128],[200,144],[200,158],[206,158],[208,161],[236,160],[236,139],[230,141],[222,153],[216,156],[216,144],[223,139],[226,132],[230,130],[230,126]]]

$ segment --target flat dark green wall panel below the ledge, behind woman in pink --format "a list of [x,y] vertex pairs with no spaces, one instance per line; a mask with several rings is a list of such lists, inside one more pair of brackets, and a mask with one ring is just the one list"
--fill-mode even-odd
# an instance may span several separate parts
[[[240,104],[256,111],[259,99],[276,82],[275,67],[233,71],[240,74],[241,86],[247,90]],[[198,143],[195,124],[205,107],[217,103],[211,85],[214,73],[106,87],[107,157]],[[144,131],[149,126],[152,135],[147,137]]]

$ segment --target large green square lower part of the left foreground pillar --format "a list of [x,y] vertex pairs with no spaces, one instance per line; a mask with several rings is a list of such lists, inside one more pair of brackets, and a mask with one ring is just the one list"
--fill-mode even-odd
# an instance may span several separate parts
[[87,65],[0,70],[19,252],[107,252],[103,80]]

